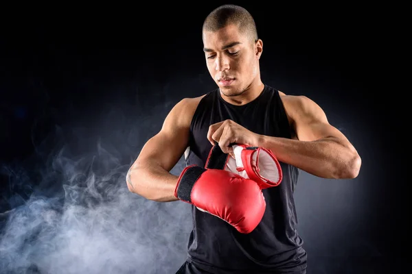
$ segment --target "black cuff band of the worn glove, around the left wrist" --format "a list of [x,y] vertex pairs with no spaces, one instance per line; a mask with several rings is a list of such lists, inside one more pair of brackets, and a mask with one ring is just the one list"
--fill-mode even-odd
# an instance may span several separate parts
[[176,188],[174,188],[174,197],[181,201],[192,203],[192,188],[198,178],[201,177],[205,171],[206,169],[203,169],[201,166],[196,166],[195,164],[185,167],[179,175]]

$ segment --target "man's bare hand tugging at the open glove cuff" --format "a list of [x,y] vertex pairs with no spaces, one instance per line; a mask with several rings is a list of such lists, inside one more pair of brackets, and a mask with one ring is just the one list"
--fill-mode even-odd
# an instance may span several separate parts
[[207,140],[211,145],[218,145],[224,153],[229,153],[233,158],[233,148],[231,144],[239,143],[251,147],[258,146],[259,134],[251,132],[231,120],[225,120],[213,125],[210,125],[209,132],[207,132]]

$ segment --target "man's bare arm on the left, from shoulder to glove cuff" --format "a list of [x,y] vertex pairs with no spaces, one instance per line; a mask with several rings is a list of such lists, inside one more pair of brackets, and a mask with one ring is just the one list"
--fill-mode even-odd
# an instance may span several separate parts
[[152,201],[176,201],[178,176],[170,170],[183,155],[189,140],[195,99],[183,99],[166,117],[161,131],[150,138],[130,167],[126,182],[130,192]]

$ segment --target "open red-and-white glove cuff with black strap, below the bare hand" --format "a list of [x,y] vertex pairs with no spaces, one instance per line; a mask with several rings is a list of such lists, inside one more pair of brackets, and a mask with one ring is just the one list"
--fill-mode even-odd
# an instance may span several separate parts
[[[264,147],[248,147],[233,145],[235,159],[222,153],[218,145],[214,145],[213,157],[209,153],[207,169],[225,169],[240,176],[252,179],[261,189],[278,186],[282,182],[282,168],[270,149]],[[224,165],[224,166],[223,166]]]

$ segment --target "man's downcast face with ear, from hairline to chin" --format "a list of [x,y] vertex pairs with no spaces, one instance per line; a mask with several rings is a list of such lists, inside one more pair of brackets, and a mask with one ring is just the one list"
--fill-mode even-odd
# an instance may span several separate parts
[[207,69],[224,95],[241,95],[260,75],[262,40],[253,41],[236,25],[203,32],[203,46]]

